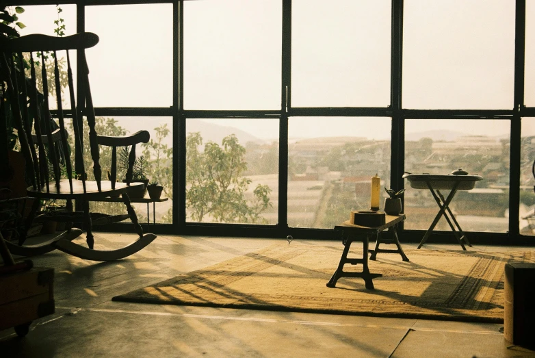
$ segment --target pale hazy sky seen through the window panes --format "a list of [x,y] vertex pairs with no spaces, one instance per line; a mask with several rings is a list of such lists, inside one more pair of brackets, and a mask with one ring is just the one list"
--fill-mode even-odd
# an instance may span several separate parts
[[[510,109],[514,66],[514,1],[404,1],[406,107]],[[390,0],[294,0],[294,106],[389,104]],[[75,5],[61,5],[66,34],[76,31]],[[21,34],[53,35],[53,5],[25,7]],[[185,108],[277,110],[280,107],[281,1],[185,2]],[[526,103],[535,105],[535,0],[527,1]],[[86,29],[101,38],[89,49],[96,106],[172,105],[172,5],[86,8]],[[246,29],[244,31],[244,29]],[[147,55],[150,54],[150,55]],[[278,127],[239,120],[259,138]],[[498,136],[493,121],[418,121],[407,131],[456,130]],[[385,118],[292,118],[300,136],[387,139]],[[523,122],[523,134],[535,126]]]

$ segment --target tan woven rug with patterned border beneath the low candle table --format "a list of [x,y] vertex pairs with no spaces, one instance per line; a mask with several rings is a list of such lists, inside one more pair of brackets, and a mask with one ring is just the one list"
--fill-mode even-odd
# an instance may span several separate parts
[[[339,242],[273,244],[113,301],[503,322],[504,265],[535,261],[533,251],[408,249],[410,262],[392,253],[379,253],[370,261],[370,272],[383,275],[374,279],[375,290],[367,290],[363,279],[349,277],[326,287],[342,249]],[[358,250],[348,255],[359,256]],[[362,267],[346,264],[344,270]]]

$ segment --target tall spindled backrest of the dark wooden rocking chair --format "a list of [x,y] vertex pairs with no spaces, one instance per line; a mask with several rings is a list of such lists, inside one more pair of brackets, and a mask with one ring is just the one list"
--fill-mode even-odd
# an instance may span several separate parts
[[[12,119],[14,127],[18,132],[18,139],[21,144],[21,152],[26,160],[26,172],[34,190],[46,192],[59,192],[60,190],[60,162],[64,162],[66,176],[68,177],[70,192],[73,192],[73,167],[70,159],[70,146],[67,141],[67,131],[64,121],[64,115],[70,114],[73,118],[73,129],[75,140],[75,155],[83,157],[83,148],[81,141],[81,120],[78,116],[81,112],[77,110],[75,101],[75,89],[73,86],[73,71],[70,66],[69,52],[76,51],[78,58],[81,59],[81,78],[78,81],[81,84],[84,103],[83,115],[87,118],[89,127],[90,151],[93,162],[94,178],[97,182],[99,191],[101,191],[101,166],[99,164],[99,145],[95,131],[95,115],[91,98],[89,84],[89,68],[86,62],[84,49],[93,47],[99,42],[99,37],[90,32],[66,36],[64,38],[46,36],[41,34],[32,34],[20,38],[1,40],[0,48],[3,53],[0,57],[0,67],[2,77],[8,83],[8,97],[10,99]],[[24,57],[23,53],[28,53]],[[40,57],[40,71],[42,75],[42,88],[38,88],[36,77],[36,57]],[[48,73],[45,57],[47,53],[53,57],[53,72],[55,86],[55,101],[57,103],[57,121],[51,117],[49,106],[49,84],[51,83]],[[70,97],[70,111],[64,111],[62,101],[62,86],[60,83],[60,66],[58,66],[58,57],[66,56],[67,79],[68,85],[66,90]],[[26,60],[25,60],[26,58]],[[25,75],[25,68],[29,68],[30,75]],[[80,103],[79,103],[80,105]],[[31,136],[31,128],[35,129],[36,136]],[[46,138],[46,139],[44,139]],[[36,142],[34,142],[36,140]],[[49,164],[53,179],[49,179]],[[85,191],[86,170],[83,168],[83,161],[80,161],[82,168],[79,168],[79,174],[83,179],[83,188]]]

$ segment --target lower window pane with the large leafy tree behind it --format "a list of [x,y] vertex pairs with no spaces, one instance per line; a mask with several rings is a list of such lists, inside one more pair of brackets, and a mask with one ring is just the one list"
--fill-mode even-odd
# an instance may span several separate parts
[[190,222],[276,224],[278,119],[188,119]]

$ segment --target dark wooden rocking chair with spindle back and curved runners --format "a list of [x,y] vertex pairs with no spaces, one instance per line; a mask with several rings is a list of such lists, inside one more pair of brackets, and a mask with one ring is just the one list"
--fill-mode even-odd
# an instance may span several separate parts
[[[39,255],[54,249],[64,251],[70,255],[90,259],[94,261],[109,261],[122,259],[153,242],[155,235],[144,234],[142,227],[138,223],[138,218],[131,205],[129,192],[139,190],[138,186],[144,183],[131,183],[132,168],[135,159],[135,144],[148,142],[147,131],[140,131],[127,137],[101,137],[95,131],[95,114],[91,98],[89,85],[89,69],[86,62],[84,49],[93,47],[99,42],[99,37],[92,33],[81,33],[64,38],[45,36],[40,34],[27,35],[21,38],[5,40],[0,42],[1,77],[8,84],[8,100],[10,101],[12,120],[14,127],[18,131],[18,140],[21,145],[21,152],[26,162],[26,181],[29,185],[27,196],[34,198],[31,212],[25,220],[25,229],[29,229],[34,220],[53,220],[56,222],[66,222],[66,231],[57,235],[52,240],[38,246],[25,245],[26,235],[23,231],[18,244],[6,241],[10,252],[14,255]],[[83,160],[77,168],[79,175],[74,177],[73,166],[71,165],[70,154],[83,157],[82,131],[79,126],[81,121],[75,106],[75,92],[73,88],[73,75],[70,67],[69,51],[77,51],[81,56],[79,63],[83,64],[82,76],[78,78],[85,97],[85,108],[83,116],[86,116],[89,127],[88,137],[90,152],[93,163],[94,180],[89,181]],[[57,101],[57,123],[51,118],[49,110],[49,79],[44,62],[45,51],[53,53],[55,72],[55,97]],[[60,52],[61,51],[61,52]],[[36,64],[34,53],[40,53],[42,90],[37,88]],[[24,60],[23,53],[29,53],[29,57]],[[72,150],[68,144],[68,131],[66,131],[64,110],[62,108],[62,90],[60,84],[60,69],[58,67],[58,56],[66,55],[68,71],[68,94],[70,96],[70,111],[73,118],[73,136],[75,148]],[[31,78],[27,78],[23,70],[24,66],[29,67]],[[42,93],[42,94],[41,94]],[[29,100],[28,100],[29,99]],[[83,104],[81,107],[84,107]],[[35,134],[31,135],[31,128],[35,129]],[[55,127],[55,128],[54,128]],[[102,142],[102,143],[99,143]],[[99,144],[113,146],[113,153],[116,153],[116,146],[132,146],[131,157],[129,158],[129,168],[127,170],[127,183],[118,183],[115,180],[116,163],[112,163],[112,178],[109,181],[101,181],[101,165],[99,164]],[[115,155],[114,159],[115,159]],[[64,166],[64,179],[62,179],[61,165]],[[49,170],[50,166],[50,170]],[[66,178],[65,178],[66,177]],[[138,188],[136,188],[138,187]],[[127,208],[124,215],[107,215],[90,212],[90,201],[99,201],[109,196],[122,197]],[[36,216],[36,212],[43,200],[64,199],[67,201],[66,212],[58,215],[42,214]],[[73,201],[83,209],[82,212],[73,211]],[[139,235],[138,240],[129,246],[116,250],[96,250],[94,249],[94,237],[92,234],[93,225],[104,225],[119,222],[130,218],[133,223],[133,230]],[[86,242],[88,247],[76,244],[72,240],[79,237],[83,231],[73,226],[81,226],[86,231]]]

